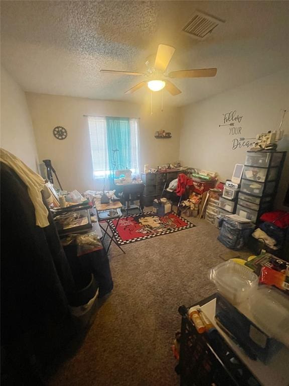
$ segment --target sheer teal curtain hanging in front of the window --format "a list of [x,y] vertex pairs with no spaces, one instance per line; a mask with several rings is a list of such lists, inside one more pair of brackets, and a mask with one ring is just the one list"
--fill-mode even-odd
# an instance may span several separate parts
[[106,117],[106,141],[109,170],[130,169],[129,118]]

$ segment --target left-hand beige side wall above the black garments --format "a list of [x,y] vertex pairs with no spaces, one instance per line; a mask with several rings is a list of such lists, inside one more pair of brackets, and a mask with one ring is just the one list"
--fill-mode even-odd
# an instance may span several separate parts
[[35,137],[24,91],[1,67],[1,147],[38,170]]

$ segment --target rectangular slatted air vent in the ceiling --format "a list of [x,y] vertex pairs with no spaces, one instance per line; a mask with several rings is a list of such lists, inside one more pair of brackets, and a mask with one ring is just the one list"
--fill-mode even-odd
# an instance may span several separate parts
[[223,20],[196,11],[189,23],[183,28],[183,31],[195,39],[203,40],[222,23],[224,23]]

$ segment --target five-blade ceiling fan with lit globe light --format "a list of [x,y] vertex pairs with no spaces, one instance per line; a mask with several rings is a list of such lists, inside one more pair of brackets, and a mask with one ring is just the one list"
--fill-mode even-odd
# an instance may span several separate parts
[[147,72],[132,72],[132,71],[114,71],[114,70],[100,70],[100,72],[110,73],[110,74],[122,74],[122,75],[143,75],[147,76],[148,80],[143,80],[140,83],[137,83],[135,86],[129,88],[125,91],[125,94],[130,94],[139,88],[145,86],[146,84],[152,91],[160,91],[165,88],[172,95],[178,95],[182,91],[175,86],[168,79],[164,78],[200,78],[200,77],[209,77],[215,76],[217,73],[217,68],[203,68],[196,70],[180,70],[172,71],[168,74],[165,73],[173,55],[175,52],[175,47],[167,46],[166,44],[159,44],[157,56],[155,59],[154,65],[150,65],[150,62],[147,61],[148,66]]

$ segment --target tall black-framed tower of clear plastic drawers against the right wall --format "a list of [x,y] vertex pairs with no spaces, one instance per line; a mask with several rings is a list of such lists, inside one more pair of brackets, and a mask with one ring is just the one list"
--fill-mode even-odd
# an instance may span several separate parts
[[263,213],[272,210],[285,156],[285,151],[247,151],[237,215],[258,223]]

